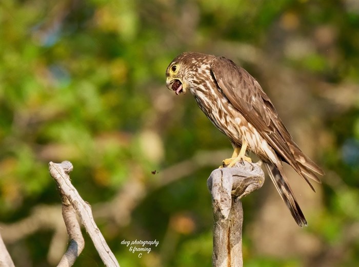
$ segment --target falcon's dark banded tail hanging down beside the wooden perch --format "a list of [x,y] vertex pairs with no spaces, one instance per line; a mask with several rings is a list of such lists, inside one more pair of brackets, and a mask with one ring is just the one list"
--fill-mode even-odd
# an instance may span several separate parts
[[288,181],[284,175],[281,174],[280,170],[274,165],[265,163],[265,166],[268,170],[268,174],[275,185],[278,193],[281,195],[281,198],[286,203],[289,208],[290,213],[292,214],[295,222],[303,227],[303,225],[308,226],[307,220],[305,219],[301,207],[297,203],[292,189],[290,188]]

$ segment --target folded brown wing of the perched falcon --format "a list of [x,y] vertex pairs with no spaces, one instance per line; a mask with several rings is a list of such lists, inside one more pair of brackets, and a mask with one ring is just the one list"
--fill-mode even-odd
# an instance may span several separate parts
[[245,69],[222,56],[212,61],[211,71],[231,104],[314,190],[307,178],[320,182],[316,174],[324,175],[323,170],[294,143],[260,84]]

